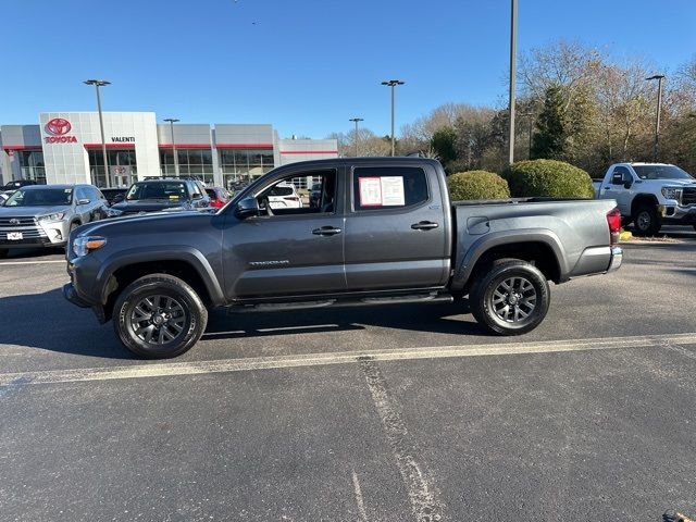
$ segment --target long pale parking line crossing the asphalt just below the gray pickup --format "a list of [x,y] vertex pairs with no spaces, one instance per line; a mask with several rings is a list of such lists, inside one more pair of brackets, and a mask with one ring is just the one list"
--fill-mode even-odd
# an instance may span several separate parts
[[443,359],[460,357],[513,356],[524,353],[555,353],[563,351],[611,350],[619,348],[645,348],[662,343],[695,345],[696,332],[636,337],[604,337],[574,340],[545,340],[488,345],[427,346],[394,350],[356,350],[295,356],[252,357],[214,361],[159,362],[126,366],[80,368],[75,370],[47,370],[44,372],[0,373],[0,386],[18,378],[27,384],[57,384],[87,381],[113,381],[121,378],[165,377],[175,375],[201,375],[209,373],[243,372],[278,368],[349,364],[365,358],[376,361],[408,361],[417,359]]

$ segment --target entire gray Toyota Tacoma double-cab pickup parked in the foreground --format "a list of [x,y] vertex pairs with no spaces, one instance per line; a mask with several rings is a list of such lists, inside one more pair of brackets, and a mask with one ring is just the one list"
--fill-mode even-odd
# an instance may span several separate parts
[[[273,209],[273,188],[287,183],[320,185],[316,204]],[[269,312],[469,296],[484,328],[515,335],[543,321],[549,281],[620,266],[620,221],[608,200],[452,203],[434,160],[295,163],[214,213],[79,227],[63,293],[100,322],[113,320],[123,345],[147,358],[191,348],[213,307]]]

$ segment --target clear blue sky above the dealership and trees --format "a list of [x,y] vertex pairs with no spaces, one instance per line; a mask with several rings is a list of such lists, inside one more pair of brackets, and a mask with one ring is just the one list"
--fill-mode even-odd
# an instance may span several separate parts
[[[95,109],[388,134],[448,101],[506,100],[509,0],[5,0],[0,123]],[[696,54],[695,0],[519,0],[520,51],[559,38],[673,71]]]

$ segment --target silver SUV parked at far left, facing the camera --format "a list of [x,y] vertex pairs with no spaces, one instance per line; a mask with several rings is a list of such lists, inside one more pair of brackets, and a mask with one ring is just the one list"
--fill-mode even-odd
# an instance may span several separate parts
[[92,185],[32,185],[0,206],[0,258],[9,249],[62,247],[70,232],[101,220],[109,207]]

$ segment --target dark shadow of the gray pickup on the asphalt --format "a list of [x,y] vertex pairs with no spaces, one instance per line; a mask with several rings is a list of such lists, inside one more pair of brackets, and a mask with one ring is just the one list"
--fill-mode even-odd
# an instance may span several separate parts
[[[366,326],[452,335],[485,335],[473,321],[462,321],[468,304],[394,304],[359,309],[227,314],[212,310],[201,341],[262,336],[363,331]],[[134,359],[90,310],[64,301],[62,291],[0,298],[0,353],[7,345],[108,359]],[[40,321],[37,321],[40,319]],[[229,348],[234,348],[231,345]]]

